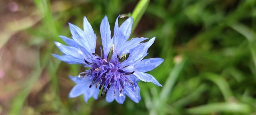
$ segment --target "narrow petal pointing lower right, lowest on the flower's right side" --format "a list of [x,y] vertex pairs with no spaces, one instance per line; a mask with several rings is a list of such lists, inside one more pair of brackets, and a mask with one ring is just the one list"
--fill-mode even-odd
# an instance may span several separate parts
[[133,75],[135,75],[141,81],[152,82],[152,83],[162,87],[162,85],[152,75],[150,75],[148,73],[135,71],[133,73]]

